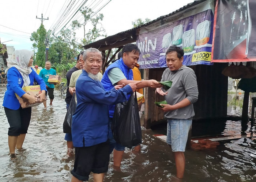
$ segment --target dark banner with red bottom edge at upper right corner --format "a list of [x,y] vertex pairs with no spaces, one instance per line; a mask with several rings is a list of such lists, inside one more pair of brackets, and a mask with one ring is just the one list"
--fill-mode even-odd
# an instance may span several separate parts
[[212,62],[256,61],[255,8],[255,0],[216,1]]

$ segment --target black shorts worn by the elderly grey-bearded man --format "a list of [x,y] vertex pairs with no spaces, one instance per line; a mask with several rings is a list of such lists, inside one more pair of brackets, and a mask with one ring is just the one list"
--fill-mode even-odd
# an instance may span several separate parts
[[106,173],[109,166],[109,141],[90,147],[75,147],[75,163],[71,174],[79,180],[88,181],[93,173]]

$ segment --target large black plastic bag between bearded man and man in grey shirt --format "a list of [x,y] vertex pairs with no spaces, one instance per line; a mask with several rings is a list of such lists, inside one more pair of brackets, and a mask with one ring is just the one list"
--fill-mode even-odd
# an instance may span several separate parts
[[142,143],[136,92],[135,96],[131,94],[127,102],[116,104],[112,132],[117,143],[130,149]]

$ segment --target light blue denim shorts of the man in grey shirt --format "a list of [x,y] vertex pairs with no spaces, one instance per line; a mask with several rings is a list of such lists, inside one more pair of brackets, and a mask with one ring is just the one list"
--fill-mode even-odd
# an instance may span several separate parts
[[192,120],[168,119],[166,143],[172,146],[173,152],[185,151],[191,126]]

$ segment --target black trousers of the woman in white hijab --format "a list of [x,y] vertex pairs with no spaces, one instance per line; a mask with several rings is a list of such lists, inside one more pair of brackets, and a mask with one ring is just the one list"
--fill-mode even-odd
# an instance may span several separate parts
[[31,107],[23,109],[20,106],[18,110],[4,107],[4,111],[10,125],[8,130],[9,136],[19,136],[20,134],[27,133],[31,119]]

